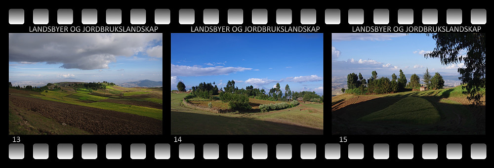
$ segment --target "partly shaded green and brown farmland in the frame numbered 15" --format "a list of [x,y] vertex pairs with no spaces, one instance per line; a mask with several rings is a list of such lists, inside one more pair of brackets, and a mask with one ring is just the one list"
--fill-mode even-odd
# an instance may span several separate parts
[[[461,86],[331,98],[332,134],[485,134],[485,105]],[[485,101],[485,94],[484,94]]]

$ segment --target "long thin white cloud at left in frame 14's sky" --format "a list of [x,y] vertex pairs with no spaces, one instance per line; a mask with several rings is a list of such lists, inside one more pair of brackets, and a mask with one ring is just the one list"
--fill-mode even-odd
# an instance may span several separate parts
[[206,67],[200,66],[185,66],[185,65],[173,65],[171,64],[172,76],[210,76],[210,75],[227,75],[230,73],[242,72],[252,70],[252,68],[243,67]]

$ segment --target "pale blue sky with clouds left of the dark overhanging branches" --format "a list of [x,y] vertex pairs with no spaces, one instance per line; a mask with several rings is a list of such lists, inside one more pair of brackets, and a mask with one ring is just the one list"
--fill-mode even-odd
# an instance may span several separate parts
[[[436,47],[436,41],[426,34],[332,34],[332,76],[362,73],[370,77],[400,73],[422,75],[429,73],[458,75],[463,63],[442,65],[438,58],[425,58],[424,54]],[[466,53],[463,52],[463,53]]]

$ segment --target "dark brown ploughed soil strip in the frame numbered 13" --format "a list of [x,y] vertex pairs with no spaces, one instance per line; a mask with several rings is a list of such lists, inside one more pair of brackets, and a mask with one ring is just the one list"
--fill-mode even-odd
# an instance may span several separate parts
[[93,134],[163,134],[163,121],[149,117],[16,95],[9,95],[8,99],[16,108],[38,113],[60,124],[75,126]]

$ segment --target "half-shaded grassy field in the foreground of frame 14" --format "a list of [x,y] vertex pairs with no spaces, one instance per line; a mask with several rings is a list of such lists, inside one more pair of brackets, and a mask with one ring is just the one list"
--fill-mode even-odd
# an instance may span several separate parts
[[171,93],[172,134],[323,134],[322,104],[266,113],[212,113],[181,105],[186,95]]

